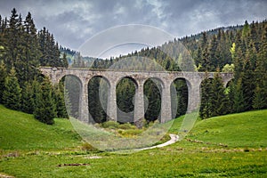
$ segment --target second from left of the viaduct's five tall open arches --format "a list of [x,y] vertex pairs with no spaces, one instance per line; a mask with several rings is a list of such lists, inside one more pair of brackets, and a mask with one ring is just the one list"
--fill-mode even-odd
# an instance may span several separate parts
[[101,123],[107,121],[110,91],[109,80],[100,75],[93,76],[88,81],[87,89],[89,122]]

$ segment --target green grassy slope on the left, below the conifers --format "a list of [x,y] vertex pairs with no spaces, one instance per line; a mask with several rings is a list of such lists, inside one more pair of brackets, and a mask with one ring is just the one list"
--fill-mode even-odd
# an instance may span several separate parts
[[62,150],[81,145],[68,119],[45,125],[32,115],[0,105],[0,150]]

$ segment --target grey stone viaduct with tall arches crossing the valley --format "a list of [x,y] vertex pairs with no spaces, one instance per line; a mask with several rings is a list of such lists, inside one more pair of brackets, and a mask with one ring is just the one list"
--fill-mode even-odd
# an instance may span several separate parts
[[[134,122],[144,117],[144,100],[143,100],[143,85],[149,78],[156,78],[160,81],[162,87],[161,93],[161,112],[160,122],[164,123],[172,119],[171,110],[171,84],[177,78],[185,79],[188,86],[188,109],[191,112],[198,109],[200,103],[200,84],[205,79],[205,72],[176,72],[176,71],[119,71],[119,70],[96,70],[96,69],[76,69],[76,68],[40,68],[42,73],[50,77],[53,84],[60,82],[62,77],[74,76],[80,80],[80,107],[79,116],[83,122],[89,122],[88,109],[88,89],[87,85],[92,77],[103,77],[109,83],[109,97],[107,115],[109,119],[117,121],[117,100],[116,86],[118,82],[129,77],[135,83],[135,98],[134,98]],[[214,77],[214,73],[207,73],[209,78]],[[223,84],[233,78],[232,73],[221,73]]]

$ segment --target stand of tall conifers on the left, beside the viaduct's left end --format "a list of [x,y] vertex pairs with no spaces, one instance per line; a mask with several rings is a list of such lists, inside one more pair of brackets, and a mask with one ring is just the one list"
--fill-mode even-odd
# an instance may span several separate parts
[[53,117],[68,117],[63,85],[53,86],[39,66],[68,67],[53,34],[37,31],[30,12],[25,20],[16,9],[9,19],[0,16],[0,103],[51,125]]

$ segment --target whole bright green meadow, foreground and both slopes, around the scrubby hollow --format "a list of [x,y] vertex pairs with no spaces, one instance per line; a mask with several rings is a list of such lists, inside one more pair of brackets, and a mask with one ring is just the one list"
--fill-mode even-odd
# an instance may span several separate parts
[[[0,177],[267,177],[267,110],[198,120],[181,142],[132,154],[81,150],[67,119],[44,125],[3,106],[0,113]],[[89,165],[59,166],[75,163]]]

